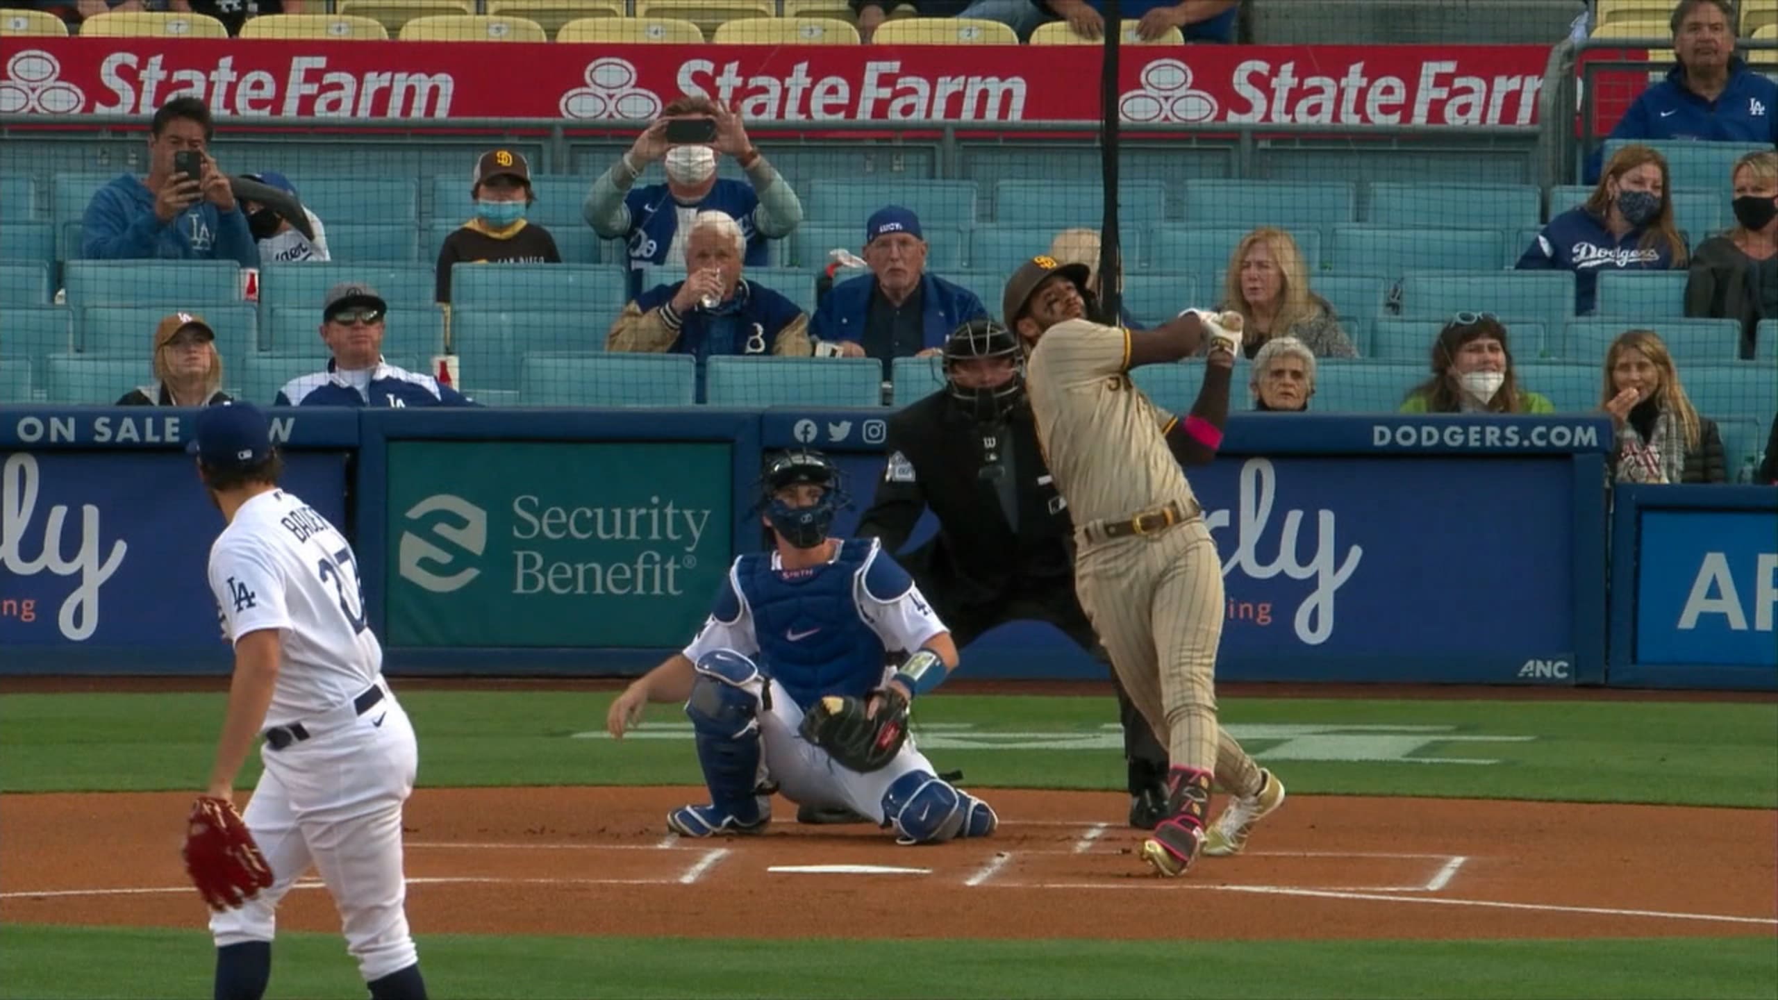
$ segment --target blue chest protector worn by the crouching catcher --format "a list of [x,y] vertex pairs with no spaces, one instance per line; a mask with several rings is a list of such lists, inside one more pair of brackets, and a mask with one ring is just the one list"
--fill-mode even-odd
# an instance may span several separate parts
[[884,644],[855,598],[873,546],[871,539],[848,539],[832,562],[788,573],[772,568],[770,553],[743,555],[736,566],[766,673],[802,708],[825,694],[857,696],[882,681]]

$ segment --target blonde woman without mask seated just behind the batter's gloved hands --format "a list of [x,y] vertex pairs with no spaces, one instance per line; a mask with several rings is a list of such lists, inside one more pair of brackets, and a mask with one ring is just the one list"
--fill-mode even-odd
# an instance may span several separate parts
[[[1321,358],[1357,358],[1334,304],[1309,288],[1303,251],[1284,230],[1264,226],[1241,237],[1229,254],[1223,310],[1241,313],[1241,349],[1248,358],[1273,336],[1293,336]],[[1209,351],[1205,343],[1198,352]]]

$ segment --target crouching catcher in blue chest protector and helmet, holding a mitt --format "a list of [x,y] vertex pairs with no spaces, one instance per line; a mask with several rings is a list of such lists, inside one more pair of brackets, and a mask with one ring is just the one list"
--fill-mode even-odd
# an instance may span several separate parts
[[[827,537],[845,504],[839,470],[821,454],[772,461],[761,514],[773,552],[736,559],[692,644],[612,703],[613,737],[649,701],[685,703],[711,801],[667,815],[681,836],[761,833],[773,792],[852,810],[893,827],[898,843],[999,826],[907,735],[909,703],[944,681],[957,644],[875,539]],[[905,658],[885,667],[891,651]]]

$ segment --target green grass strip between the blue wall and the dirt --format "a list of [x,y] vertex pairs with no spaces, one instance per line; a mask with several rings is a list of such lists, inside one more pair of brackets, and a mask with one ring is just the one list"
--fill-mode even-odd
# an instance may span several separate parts
[[[420,731],[420,781],[491,785],[695,785],[692,744],[569,738],[603,730],[610,694],[414,690],[402,701]],[[208,772],[220,694],[14,694],[0,699],[0,790],[194,788]],[[1109,698],[935,696],[917,712],[974,733],[1053,735],[1040,749],[937,749],[941,769],[980,786],[1122,788]],[[1778,806],[1778,705],[1648,701],[1229,699],[1230,726],[1447,726],[1417,758],[1494,765],[1278,758],[1280,738],[1248,738],[1293,792],[1458,795],[1604,802]],[[649,722],[683,722],[670,705]],[[919,731],[919,730],[916,730]],[[1465,742],[1462,737],[1533,737]],[[1099,737],[1099,749],[1067,744]],[[242,776],[251,783],[252,769]]]

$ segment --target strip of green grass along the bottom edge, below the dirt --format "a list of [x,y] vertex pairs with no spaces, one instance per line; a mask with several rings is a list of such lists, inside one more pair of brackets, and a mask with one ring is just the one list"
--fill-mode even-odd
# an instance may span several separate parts
[[[420,940],[428,993],[555,996],[1771,998],[1771,938],[1606,941]],[[201,931],[0,927],[0,998],[210,996]],[[1529,988],[1526,984],[1536,984]],[[268,1000],[357,998],[329,934],[284,934]]]

